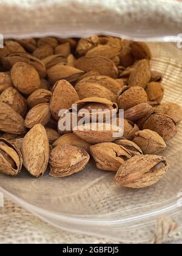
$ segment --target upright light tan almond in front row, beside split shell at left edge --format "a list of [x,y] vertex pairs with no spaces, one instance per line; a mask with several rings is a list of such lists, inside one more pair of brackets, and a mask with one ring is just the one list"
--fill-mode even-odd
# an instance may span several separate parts
[[25,135],[22,142],[24,166],[32,176],[44,174],[49,162],[49,140],[44,126],[36,124]]

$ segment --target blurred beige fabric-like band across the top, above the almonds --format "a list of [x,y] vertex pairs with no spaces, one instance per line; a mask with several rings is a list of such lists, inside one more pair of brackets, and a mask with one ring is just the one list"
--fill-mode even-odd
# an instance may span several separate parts
[[182,5],[172,0],[0,0],[5,37],[112,32],[132,38],[177,37]]

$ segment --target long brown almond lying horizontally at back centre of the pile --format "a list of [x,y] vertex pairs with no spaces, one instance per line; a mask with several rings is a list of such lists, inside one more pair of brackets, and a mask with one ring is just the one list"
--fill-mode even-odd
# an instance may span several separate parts
[[98,72],[101,76],[110,76],[116,78],[118,76],[118,68],[112,60],[103,56],[86,56],[75,62],[75,68],[85,72]]

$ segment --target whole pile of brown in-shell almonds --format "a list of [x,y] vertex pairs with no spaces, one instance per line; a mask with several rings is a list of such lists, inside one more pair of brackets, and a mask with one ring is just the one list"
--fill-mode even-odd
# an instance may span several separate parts
[[[16,176],[24,165],[39,177],[49,166],[50,176],[65,177],[83,170],[92,156],[97,168],[116,172],[121,186],[158,182],[169,166],[157,154],[176,135],[182,110],[172,102],[161,104],[163,77],[151,70],[151,57],[146,43],[105,35],[5,40],[0,49],[0,172]],[[104,121],[95,121],[95,129],[86,123],[84,129],[59,130],[64,118],[59,110],[72,110],[73,104],[79,112],[89,110],[90,120],[93,109],[123,109],[123,137],[113,138],[120,127],[106,129]]]

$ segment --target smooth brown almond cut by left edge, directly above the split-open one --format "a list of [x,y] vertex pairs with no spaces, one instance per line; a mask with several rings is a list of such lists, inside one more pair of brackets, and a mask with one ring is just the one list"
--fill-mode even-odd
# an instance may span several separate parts
[[3,102],[0,102],[0,130],[15,134],[26,132],[22,116]]

